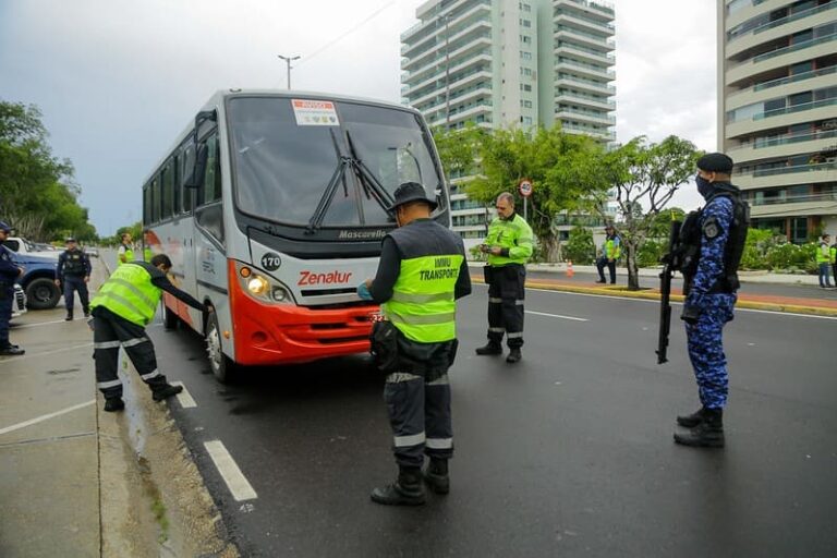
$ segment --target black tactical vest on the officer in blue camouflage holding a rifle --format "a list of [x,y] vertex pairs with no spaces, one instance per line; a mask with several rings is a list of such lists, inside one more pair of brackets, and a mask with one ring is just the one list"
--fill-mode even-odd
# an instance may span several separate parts
[[[732,220],[729,226],[727,245],[724,248],[724,275],[718,278],[712,292],[735,292],[741,286],[738,280],[738,266],[744,254],[747,230],[750,228],[750,205],[741,198],[741,192],[738,189],[727,190],[724,186],[724,184],[719,185],[719,190],[706,201],[706,205],[708,205],[716,197],[726,196],[732,202]],[[701,221],[704,207],[686,216],[680,228],[678,246],[675,248],[681,263],[679,270],[686,279],[684,294],[689,293],[701,259],[701,239],[703,236]]]

